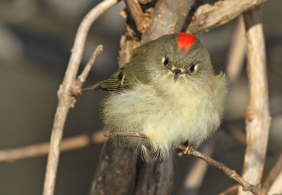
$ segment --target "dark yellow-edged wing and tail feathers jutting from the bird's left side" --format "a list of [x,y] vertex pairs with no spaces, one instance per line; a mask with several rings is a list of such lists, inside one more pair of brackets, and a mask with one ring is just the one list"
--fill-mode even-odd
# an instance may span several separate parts
[[129,89],[130,83],[125,77],[123,73],[124,68],[119,69],[116,73],[111,75],[109,79],[104,80],[102,82],[97,82],[91,87],[87,87],[86,89],[93,90],[104,90],[104,91],[117,91],[121,89]]

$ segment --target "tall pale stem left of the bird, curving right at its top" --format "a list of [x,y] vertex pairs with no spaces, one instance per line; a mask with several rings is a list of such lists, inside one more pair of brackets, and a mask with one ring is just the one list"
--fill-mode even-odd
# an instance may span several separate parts
[[70,91],[78,73],[78,67],[82,59],[88,31],[90,30],[92,23],[94,23],[94,21],[99,18],[100,15],[117,3],[118,0],[102,1],[102,3],[92,8],[92,10],[85,15],[85,18],[83,18],[78,28],[73,45],[73,54],[71,55],[70,61],[68,63],[68,68],[66,70],[65,77],[63,78],[63,83],[59,87],[58,91],[59,103],[51,132],[43,195],[54,194],[56,172],[59,163],[60,144],[63,136],[63,127],[66,122],[68,111],[75,102],[75,96],[72,96]]

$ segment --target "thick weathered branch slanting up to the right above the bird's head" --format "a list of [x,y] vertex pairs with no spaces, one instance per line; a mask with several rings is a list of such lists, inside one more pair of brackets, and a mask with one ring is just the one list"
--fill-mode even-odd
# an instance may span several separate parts
[[[200,1],[200,5],[195,5],[190,11],[190,18],[192,20],[188,24],[186,32],[197,34],[212,30],[214,27],[219,27],[228,21],[236,18],[240,13],[262,4],[266,0],[229,0],[229,1],[216,1],[214,4],[211,2],[206,4],[206,1]],[[203,3],[204,2],[204,3]]]

